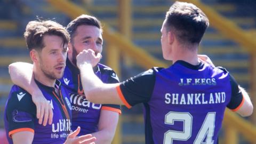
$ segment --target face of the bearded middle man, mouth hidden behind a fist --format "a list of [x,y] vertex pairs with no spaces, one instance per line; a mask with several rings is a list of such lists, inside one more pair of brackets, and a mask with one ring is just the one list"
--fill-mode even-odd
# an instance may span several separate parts
[[71,42],[71,61],[76,65],[76,56],[83,50],[92,49],[95,54],[101,53],[102,44],[103,39],[98,27],[86,25],[78,26],[73,37],[73,42]]

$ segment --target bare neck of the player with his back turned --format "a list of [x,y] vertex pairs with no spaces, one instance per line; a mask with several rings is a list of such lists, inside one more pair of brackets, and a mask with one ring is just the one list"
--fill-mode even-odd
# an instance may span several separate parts
[[175,63],[178,60],[183,60],[191,65],[198,65],[199,60],[197,56],[198,52],[198,45],[191,45],[191,46],[182,46],[178,45],[177,49],[175,49],[175,52],[173,53],[173,63]]

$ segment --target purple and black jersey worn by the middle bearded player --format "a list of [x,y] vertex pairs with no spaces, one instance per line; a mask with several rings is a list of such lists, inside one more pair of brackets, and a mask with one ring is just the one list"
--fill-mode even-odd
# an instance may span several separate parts
[[[121,114],[119,105],[101,105],[87,101],[84,96],[81,84],[80,71],[75,67],[69,59],[63,77],[60,81],[68,89],[72,109],[72,125],[71,130],[76,130],[77,126],[81,127],[78,135],[89,134],[98,131],[98,123],[101,110],[116,111]],[[102,64],[94,67],[95,74],[103,83],[118,83],[118,77],[115,72]]]

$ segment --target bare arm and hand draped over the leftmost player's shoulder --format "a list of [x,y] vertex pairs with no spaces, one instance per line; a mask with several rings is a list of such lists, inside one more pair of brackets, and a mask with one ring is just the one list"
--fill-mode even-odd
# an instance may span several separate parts
[[9,65],[9,73],[14,84],[32,95],[32,100],[36,105],[36,117],[39,118],[38,123],[42,124],[43,122],[45,126],[49,120],[49,124],[52,124],[53,112],[51,105],[44,98],[43,93],[34,81],[33,65],[26,62],[15,62]]

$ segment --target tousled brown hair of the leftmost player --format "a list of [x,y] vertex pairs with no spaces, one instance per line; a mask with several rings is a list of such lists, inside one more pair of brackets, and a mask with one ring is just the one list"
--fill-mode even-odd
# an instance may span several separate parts
[[43,43],[43,37],[45,35],[60,36],[63,47],[65,49],[67,48],[65,45],[69,42],[69,34],[65,27],[51,20],[35,20],[28,23],[24,33],[29,51],[32,49],[41,51],[45,46]]

